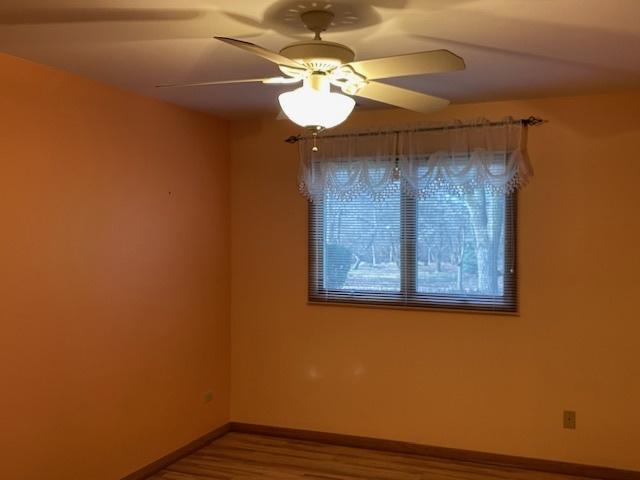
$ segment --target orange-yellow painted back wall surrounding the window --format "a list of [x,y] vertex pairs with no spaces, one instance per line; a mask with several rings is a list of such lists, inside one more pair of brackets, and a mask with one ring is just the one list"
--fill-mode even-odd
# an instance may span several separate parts
[[549,120],[520,196],[519,316],[307,305],[297,132],[232,124],[233,420],[640,470],[639,114],[628,93],[434,116]]

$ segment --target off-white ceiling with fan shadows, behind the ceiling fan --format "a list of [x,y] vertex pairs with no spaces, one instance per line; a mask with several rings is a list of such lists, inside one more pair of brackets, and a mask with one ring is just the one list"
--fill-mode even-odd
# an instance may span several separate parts
[[222,116],[276,112],[291,86],[154,85],[277,74],[211,37],[279,50],[310,38],[297,11],[328,3],[337,24],[324,38],[358,59],[464,57],[463,72],[389,80],[453,102],[640,88],[640,0],[3,0],[0,49]]

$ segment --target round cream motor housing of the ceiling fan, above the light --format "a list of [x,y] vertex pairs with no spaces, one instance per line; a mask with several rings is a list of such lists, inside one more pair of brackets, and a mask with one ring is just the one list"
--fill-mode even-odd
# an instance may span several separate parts
[[329,72],[352,62],[356,56],[346,45],[324,40],[292,43],[280,50],[280,55],[302,63],[313,72]]

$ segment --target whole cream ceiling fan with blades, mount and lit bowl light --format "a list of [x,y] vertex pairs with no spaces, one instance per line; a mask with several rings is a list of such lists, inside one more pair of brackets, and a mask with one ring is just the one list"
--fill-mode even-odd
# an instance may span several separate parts
[[[303,82],[302,87],[280,95],[280,106],[291,121],[316,132],[334,127],[346,120],[355,106],[352,98],[354,95],[420,113],[431,113],[449,104],[449,101],[443,98],[375,80],[463,70],[465,64],[462,58],[448,50],[432,50],[354,61],[355,53],[349,47],[340,43],[327,42],[320,37],[320,34],[331,25],[333,17],[334,14],[328,10],[311,10],[302,13],[302,22],[315,33],[315,38],[287,45],[279,53],[242,40],[215,37],[217,40],[275,63],[284,76],[159,86]],[[332,85],[338,87],[342,93],[331,92]]]

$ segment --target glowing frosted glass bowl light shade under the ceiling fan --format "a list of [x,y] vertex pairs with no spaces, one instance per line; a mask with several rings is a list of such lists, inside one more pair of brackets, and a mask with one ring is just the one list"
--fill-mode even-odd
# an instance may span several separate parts
[[278,98],[289,120],[301,127],[331,128],[344,122],[353,111],[353,98],[307,86],[286,92]]

